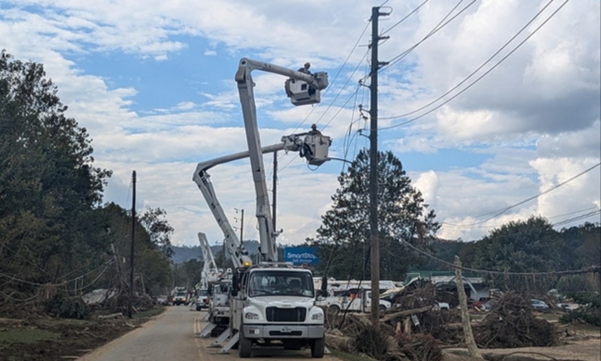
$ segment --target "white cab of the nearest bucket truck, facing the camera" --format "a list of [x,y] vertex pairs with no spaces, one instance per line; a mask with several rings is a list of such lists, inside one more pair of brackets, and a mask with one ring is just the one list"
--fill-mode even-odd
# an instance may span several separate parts
[[249,357],[252,345],[311,347],[323,357],[323,309],[316,304],[313,274],[290,264],[261,264],[234,277],[234,297],[242,297],[239,353]]

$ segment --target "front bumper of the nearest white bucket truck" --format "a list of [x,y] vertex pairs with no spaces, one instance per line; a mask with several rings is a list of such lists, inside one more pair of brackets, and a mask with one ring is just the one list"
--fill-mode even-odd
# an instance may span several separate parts
[[323,338],[322,325],[243,325],[242,332],[249,339],[319,339]]

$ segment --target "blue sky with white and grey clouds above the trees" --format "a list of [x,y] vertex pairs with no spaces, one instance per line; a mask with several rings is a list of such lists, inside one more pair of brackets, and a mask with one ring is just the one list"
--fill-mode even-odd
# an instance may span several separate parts
[[[5,0],[0,48],[44,64],[93,138],[96,165],[114,171],[106,202],[129,208],[136,170],[139,211],[165,209],[174,244],[197,245],[197,232],[213,244],[221,231],[192,173],[246,150],[240,58],[311,61],[329,74],[322,103],[295,108],[282,76],[253,73],[263,146],[317,123],[334,139],[331,155],[353,159],[368,146],[359,82],[368,84],[371,7],[382,4],[379,60],[390,65],[379,75],[379,149],[401,159],[439,236],[479,239],[531,215],[557,229],[601,221],[598,0]],[[271,179],[272,156],[264,162]],[[278,162],[279,242],[298,244],[315,236],[344,164],[314,169],[295,153]],[[245,238],[256,239],[249,170],[237,161],[210,174],[231,223],[245,209]]]

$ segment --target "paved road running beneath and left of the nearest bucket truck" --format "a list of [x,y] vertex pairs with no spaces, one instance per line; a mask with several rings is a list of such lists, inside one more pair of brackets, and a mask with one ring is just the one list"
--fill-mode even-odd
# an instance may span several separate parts
[[[165,312],[142,327],[84,355],[79,361],[240,361],[237,350],[218,354],[219,348],[209,348],[213,338],[197,335],[206,325],[206,312],[196,312],[185,306],[166,307]],[[253,361],[308,360],[311,350],[253,349]],[[340,361],[325,355],[324,361]]]

